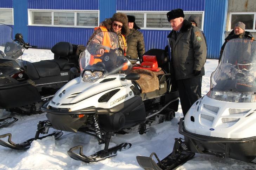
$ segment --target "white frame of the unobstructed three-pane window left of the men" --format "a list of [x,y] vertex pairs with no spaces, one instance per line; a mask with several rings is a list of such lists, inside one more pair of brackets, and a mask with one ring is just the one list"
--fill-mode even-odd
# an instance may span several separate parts
[[[99,10],[63,10],[63,9],[28,9],[28,26],[43,26],[43,27],[71,27],[71,28],[95,28],[97,26],[77,26],[77,13],[98,13],[98,25],[99,25]],[[32,24],[32,12],[51,12],[52,24]],[[54,25],[54,12],[74,13],[74,25]]]

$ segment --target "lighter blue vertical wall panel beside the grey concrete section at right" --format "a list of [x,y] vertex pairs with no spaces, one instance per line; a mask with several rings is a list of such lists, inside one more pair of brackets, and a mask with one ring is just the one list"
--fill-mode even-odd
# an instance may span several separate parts
[[227,21],[228,0],[205,0],[204,33],[207,58],[218,59]]

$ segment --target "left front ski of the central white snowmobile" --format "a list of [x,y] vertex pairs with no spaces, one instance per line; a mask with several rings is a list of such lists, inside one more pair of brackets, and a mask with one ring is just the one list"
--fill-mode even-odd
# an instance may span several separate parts
[[[63,132],[60,132],[60,131],[54,131],[53,133],[51,134],[48,134],[46,136],[41,136],[41,137],[38,137],[37,139],[43,139],[45,137],[48,137],[48,136],[55,136],[55,139],[58,139],[61,135],[63,135]],[[22,143],[14,143],[11,138],[12,138],[12,134],[11,133],[7,133],[7,134],[4,134],[4,135],[1,135],[0,138],[5,138],[8,136],[8,142],[6,141],[3,141],[0,139],[0,145],[4,146],[4,147],[7,147],[7,148],[11,148],[11,149],[15,149],[15,150],[26,150],[28,148],[30,148],[30,144],[34,141],[34,140],[37,140],[35,137],[29,139],[29,140],[26,140],[25,142],[22,142]]]

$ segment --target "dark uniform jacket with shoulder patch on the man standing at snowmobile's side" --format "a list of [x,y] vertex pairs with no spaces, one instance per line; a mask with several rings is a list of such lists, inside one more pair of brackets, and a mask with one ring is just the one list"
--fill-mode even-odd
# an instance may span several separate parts
[[175,79],[181,80],[195,77],[193,70],[201,71],[198,76],[204,75],[206,60],[206,43],[199,28],[184,20],[182,28],[175,41],[174,30],[168,35],[171,46],[171,73]]

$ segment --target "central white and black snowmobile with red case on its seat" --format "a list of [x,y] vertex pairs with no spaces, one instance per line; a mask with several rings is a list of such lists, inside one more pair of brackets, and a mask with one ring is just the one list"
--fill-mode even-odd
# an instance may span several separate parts
[[[110,41],[111,47],[99,43],[102,37]],[[102,56],[96,55],[99,47],[105,48]],[[118,49],[116,33],[96,34],[80,56],[80,77],[68,82],[42,106],[48,120],[39,122],[35,138],[25,144],[15,144],[11,141],[11,134],[5,134],[0,138],[8,136],[8,141],[0,140],[0,144],[13,149],[27,149],[40,133],[47,134],[51,127],[92,135],[99,144],[105,144],[104,150],[91,156],[83,154],[83,146],[71,148],[67,152],[75,160],[90,163],[117,155],[117,151],[130,148],[131,143],[124,142],[109,148],[114,132],[123,130],[129,133],[136,129],[142,134],[154,122],[160,123],[175,116],[178,91],[169,92],[170,74],[158,68],[158,65],[165,67],[167,57],[164,50],[152,49],[143,56],[141,67],[132,68],[130,57]]]

